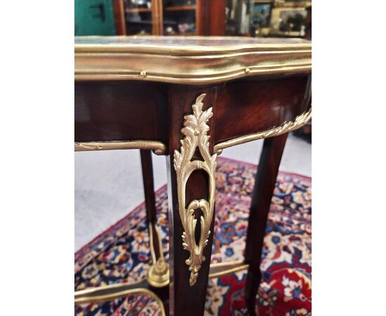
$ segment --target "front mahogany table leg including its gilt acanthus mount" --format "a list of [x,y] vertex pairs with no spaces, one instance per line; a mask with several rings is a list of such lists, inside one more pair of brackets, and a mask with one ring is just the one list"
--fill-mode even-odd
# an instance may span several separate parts
[[175,87],[169,96],[166,161],[170,314],[204,315],[213,242],[216,163],[213,143],[206,141],[206,136],[213,133],[210,107],[215,93],[210,89]]

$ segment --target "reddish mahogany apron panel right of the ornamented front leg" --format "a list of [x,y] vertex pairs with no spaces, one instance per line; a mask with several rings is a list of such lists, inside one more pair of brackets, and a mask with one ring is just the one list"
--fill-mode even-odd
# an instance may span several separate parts
[[307,81],[307,76],[287,77],[220,86],[215,102],[215,143],[295,119],[310,106]]

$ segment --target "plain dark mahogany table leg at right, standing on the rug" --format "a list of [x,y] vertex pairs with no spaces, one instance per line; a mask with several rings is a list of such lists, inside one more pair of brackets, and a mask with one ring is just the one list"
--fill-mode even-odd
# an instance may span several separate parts
[[246,263],[249,263],[246,279],[246,303],[249,315],[255,314],[255,298],[261,280],[260,261],[265,225],[276,183],[277,173],[287,133],[264,140],[258,172],[253,187],[251,210],[246,237]]

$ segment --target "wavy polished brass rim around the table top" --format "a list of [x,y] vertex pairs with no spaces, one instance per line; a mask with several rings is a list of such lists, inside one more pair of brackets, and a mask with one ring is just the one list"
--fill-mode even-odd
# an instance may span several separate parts
[[304,39],[177,39],[173,44],[170,37],[76,37],[75,80],[214,84],[311,72],[312,46]]

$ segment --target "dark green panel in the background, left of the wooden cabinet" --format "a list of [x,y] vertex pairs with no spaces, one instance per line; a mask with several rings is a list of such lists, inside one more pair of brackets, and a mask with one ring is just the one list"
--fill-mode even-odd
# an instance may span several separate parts
[[113,0],[75,0],[75,36],[115,35]]

